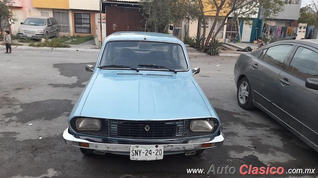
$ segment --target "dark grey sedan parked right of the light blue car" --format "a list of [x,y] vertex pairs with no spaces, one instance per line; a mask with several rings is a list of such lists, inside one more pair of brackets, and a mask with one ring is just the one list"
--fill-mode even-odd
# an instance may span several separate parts
[[256,106],[318,151],[318,40],[242,53],[234,75],[241,108]]

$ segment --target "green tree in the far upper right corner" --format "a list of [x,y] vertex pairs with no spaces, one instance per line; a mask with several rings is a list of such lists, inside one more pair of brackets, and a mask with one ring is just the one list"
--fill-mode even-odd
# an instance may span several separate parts
[[307,5],[300,9],[300,17],[298,19],[299,23],[307,23],[308,26],[315,25],[318,26],[317,14],[314,9]]

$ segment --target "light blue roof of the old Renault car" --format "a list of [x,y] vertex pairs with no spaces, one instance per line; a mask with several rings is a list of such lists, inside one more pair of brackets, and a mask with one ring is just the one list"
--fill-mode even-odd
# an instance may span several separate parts
[[171,43],[179,43],[182,42],[169,34],[163,33],[154,33],[154,32],[115,32],[111,35],[107,36],[106,41],[112,40],[145,40],[146,41],[163,41],[163,42],[171,42]]

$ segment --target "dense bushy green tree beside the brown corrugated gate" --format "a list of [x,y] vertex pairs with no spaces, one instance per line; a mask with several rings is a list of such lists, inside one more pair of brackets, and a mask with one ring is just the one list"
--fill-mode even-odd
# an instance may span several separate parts
[[169,24],[179,24],[183,20],[199,17],[199,7],[195,0],[142,0],[143,16],[150,31],[167,33]]

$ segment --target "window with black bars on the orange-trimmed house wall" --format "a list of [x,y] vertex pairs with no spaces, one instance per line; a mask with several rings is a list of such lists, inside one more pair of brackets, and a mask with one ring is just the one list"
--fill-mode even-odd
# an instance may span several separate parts
[[74,13],[75,33],[90,34],[90,14]]

